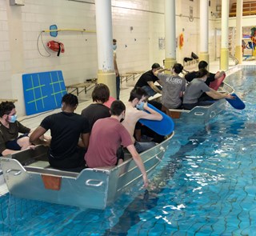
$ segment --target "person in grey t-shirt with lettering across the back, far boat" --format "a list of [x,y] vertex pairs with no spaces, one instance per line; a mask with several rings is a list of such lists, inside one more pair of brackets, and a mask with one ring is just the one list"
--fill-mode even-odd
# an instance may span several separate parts
[[167,108],[166,113],[169,114],[169,109],[175,109],[182,105],[186,81],[185,78],[178,75],[183,70],[182,64],[175,63],[171,70],[172,74],[162,74],[161,72],[164,70],[167,69],[156,70],[154,75],[162,82],[162,105]]

